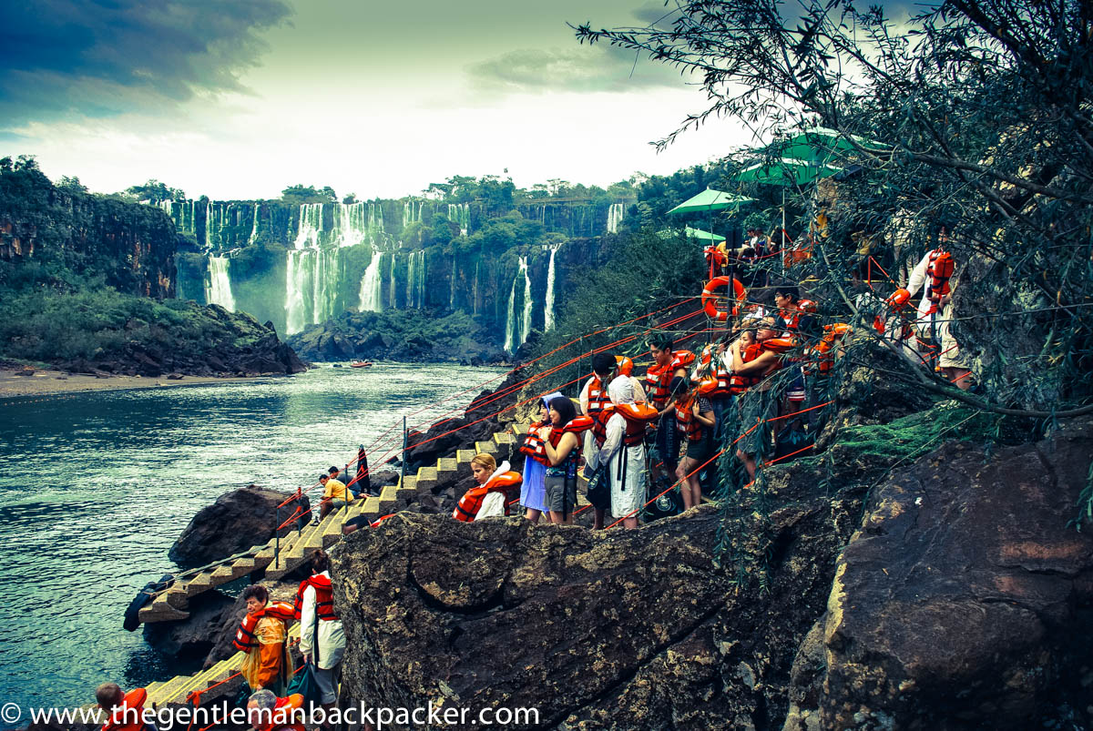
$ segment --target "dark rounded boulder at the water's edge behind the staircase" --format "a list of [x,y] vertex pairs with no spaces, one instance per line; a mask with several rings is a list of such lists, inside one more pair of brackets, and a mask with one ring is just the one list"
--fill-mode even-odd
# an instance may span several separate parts
[[[171,559],[181,568],[191,568],[266,543],[273,538],[277,527],[275,508],[290,495],[257,485],[224,493],[193,516],[171,546]],[[305,510],[310,505],[306,495],[301,502]],[[281,509],[281,522],[293,509],[292,506]],[[286,526],[282,534],[292,529],[293,526]]]

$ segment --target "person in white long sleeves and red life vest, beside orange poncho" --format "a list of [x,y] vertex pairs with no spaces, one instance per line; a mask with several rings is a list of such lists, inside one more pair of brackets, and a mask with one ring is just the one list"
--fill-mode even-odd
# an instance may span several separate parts
[[[330,557],[321,549],[312,554],[312,577],[301,581],[294,609],[299,620],[299,653],[304,663],[314,665],[315,682],[321,694],[319,703],[329,712],[338,700],[334,677],[345,652],[345,633],[334,614]],[[329,723],[322,727],[332,728]]]

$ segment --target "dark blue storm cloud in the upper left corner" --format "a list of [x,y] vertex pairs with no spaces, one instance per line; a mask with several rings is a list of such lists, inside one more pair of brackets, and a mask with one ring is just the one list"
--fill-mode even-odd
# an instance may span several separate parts
[[282,0],[0,2],[0,129],[244,91]]

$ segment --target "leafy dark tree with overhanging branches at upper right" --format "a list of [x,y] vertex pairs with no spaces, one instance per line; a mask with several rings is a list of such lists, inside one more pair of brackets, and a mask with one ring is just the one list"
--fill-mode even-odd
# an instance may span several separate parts
[[773,143],[766,156],[803,128],[837,133],[830,160],[857,174],[824,196],[790,190],[807,220],[831,213],[802,271],[818,278],[825,314],[865,325],[846,287],[854,234],[875,236],[878,254],[900,268],[944,227],[962,268],[952,327],[983,398],[920,367],[893,377],[999,413],[1093,411],[1089,2],[948,0],[903,23],[850,0],[674,8],[651,27],[583,25],[577,36],[702,80],[709,106],[661,148],[710,117],[757,130]]

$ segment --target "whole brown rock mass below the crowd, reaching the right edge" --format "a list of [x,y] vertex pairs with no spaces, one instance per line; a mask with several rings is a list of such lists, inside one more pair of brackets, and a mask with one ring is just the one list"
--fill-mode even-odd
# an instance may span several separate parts
[[[944,409],[637,531],[356,533],[333,569],[344,688],[539,728],[1089,728],[1093,542],[1066,523],[1093,423],[991,453]],[[909,459],[942,429],[961,441]]]

